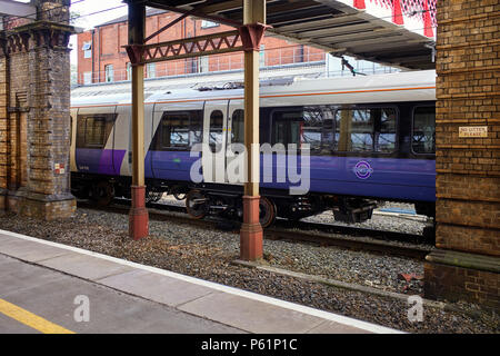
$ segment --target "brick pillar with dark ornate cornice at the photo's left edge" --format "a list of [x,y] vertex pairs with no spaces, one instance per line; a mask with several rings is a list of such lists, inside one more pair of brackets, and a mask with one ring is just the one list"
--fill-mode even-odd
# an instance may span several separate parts
[[[7,34],[8,207],[46,220],[71,217],[76,210],[69,161],[68,42],[74,32],[68,24],[69,3],[37,0],[39,18]],[[0,130],[1,112],[0,107]],[[0,152],[1,145],[0,137]]]

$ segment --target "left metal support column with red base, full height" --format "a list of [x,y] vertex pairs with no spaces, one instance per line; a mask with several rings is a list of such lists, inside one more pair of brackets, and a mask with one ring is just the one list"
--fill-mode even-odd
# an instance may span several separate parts
[[[129,46],[144,43],[146,6],[129,3]],[[132,62],[132,61],[131,61]],[[132,207],[129,235],[140,239],[149,235],[144,185],[144,65],[132,62]]]

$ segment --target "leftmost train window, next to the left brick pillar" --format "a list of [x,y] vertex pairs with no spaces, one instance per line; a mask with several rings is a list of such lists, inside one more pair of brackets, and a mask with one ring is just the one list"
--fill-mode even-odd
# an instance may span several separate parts
[[77,147],[104,148],[116,119],[114,113],[79,115]]

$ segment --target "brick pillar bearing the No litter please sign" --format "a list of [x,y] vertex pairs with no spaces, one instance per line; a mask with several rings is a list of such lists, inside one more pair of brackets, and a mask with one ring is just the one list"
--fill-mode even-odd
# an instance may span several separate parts
[[437,238],[429,298],[500,310],[500,4],[438,1]]

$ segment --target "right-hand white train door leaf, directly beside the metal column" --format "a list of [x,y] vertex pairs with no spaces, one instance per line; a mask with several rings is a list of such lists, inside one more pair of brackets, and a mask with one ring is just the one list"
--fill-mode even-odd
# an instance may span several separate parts
[[244,111],[243,100],[230,100],[228,105],[228,135],[227,135],[227,181],[242,185],[246,181],[244,156]]

